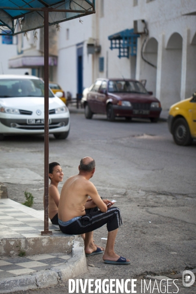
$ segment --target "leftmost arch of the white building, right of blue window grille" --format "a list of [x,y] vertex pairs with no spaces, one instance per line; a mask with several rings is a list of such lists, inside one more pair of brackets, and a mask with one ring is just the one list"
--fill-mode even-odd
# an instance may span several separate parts
[[158,42],[155,38],[150,38],[147,41],[147,45],[143,52],[143,57],[149,63],[154,65],[154,67],[147,62],[143,63],[143,78],[147,79],[147,90],[152,91],[153,95],[156,94],[156,72],[157,72],[157,51]]

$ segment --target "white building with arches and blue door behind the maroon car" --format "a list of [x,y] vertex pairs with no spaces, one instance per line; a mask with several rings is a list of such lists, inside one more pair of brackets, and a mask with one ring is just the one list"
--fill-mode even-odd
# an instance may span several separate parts
[[[59,33],[57,80],[73,97],[98,77],[146,79],[163,109],[196,91],[195,0],[97,0],[96,14],[80,20],[62,23]],[[118,47],[137,20],[145,21],[148,34],[136,46],[128,38],[128,45],[111,50],[108,37],[120,38]]]

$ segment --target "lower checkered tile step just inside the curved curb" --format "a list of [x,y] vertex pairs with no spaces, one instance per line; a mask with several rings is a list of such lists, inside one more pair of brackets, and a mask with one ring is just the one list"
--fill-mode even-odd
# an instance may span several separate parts
[[38,270],[49,270],[64,265],[71,255],[65,253],[39,254],[27,257],[0,258],[0,279],[28,274]]

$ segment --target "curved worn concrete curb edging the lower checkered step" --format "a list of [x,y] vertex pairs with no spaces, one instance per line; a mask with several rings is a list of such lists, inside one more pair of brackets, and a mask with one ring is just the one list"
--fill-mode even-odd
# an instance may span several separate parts
[[40,289],[65,282],[80,273],[87,271],[84,243],[81,237],[74,236],[72,258],[65,265],[53,267],[50,270],[41,270],[32,274],[0,280],[0,294],[15,291]]

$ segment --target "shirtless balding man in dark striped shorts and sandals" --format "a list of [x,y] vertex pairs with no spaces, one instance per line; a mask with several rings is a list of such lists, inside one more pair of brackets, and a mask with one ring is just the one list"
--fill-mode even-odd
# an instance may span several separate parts
[[[114,252],[114,243],[119,226],[122,225],[121,212],[111,207],[112,202],[102,200],[94,184],[89,181],[95,172],[95,160],[84,157],[78,167],[79,173],[71,176],[63,185],[58,206],[59,227],[65,234],[86,233],[84,247],[86,255],[102,253],[93,243],[93,231],[107,224],[108,238],[103,260],[109,264],[130,264],[129,259]],[[88,197],[91,201],[88,201]],[[98,207],[99,211],[86,213],[86,209]],[[99,250],[98,250],[99,249]]]

